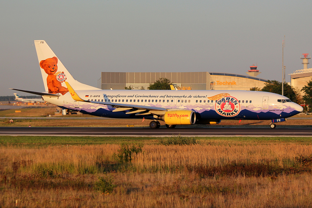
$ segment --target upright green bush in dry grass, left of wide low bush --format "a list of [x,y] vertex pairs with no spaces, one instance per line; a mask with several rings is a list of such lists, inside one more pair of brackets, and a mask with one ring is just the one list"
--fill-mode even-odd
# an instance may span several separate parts
[[143,144],[121,143],[117,154],[119,162],[130,162],[132,160],[132,154],[142,152],[142,148]]

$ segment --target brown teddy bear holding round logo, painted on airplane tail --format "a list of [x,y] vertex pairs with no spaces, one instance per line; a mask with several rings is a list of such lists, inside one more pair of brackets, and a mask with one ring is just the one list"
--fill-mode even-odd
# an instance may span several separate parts
[[62,82],[67,78],[64,72],[57,72],[57,62],[58,60],[54,56],[46,60],[41,60],[40,67],[48,74],[46,84],[48,85],[49,93],[61,93],[64,95],[68,92],[68,89],[62,86]]

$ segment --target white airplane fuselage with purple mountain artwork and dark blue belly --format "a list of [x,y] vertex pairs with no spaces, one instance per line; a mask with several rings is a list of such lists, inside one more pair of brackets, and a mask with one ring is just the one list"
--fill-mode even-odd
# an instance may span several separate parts
[[[192,110],[197,115],[196,123],[205,123],[205,120],[211,119],[271,120],[288,118],[302,111],[300,105],[290,102],[285,96],[258,91],[77,90],[76,93],[91,102]],[[116,108],[110,105],[74,101],[69,93],[64,96],[65,101],[47,97],[44,99],[60,107],[95,116],[153,119],[152,115],[140,116],[139,113],[128,113],[129,110],[113,112]]]

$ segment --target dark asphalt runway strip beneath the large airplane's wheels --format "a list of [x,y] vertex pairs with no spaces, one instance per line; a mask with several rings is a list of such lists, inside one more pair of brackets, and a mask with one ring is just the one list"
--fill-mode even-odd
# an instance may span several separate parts
[[101,128],[101,127],[0,127],[0,135],[12,136],[139,136],[163,137],[172,135],[182,136],[287,136],[312,137],[312,128]]

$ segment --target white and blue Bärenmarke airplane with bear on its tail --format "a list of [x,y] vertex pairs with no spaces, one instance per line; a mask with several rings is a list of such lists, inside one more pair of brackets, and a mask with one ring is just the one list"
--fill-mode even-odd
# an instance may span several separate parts
[[[271,120],[270,127],[299,114],[303,108],[285,96],[245,90],[103,90],[75,80],[46,41],[35,47],[46,102],[100,117],[152,120],[150,128],[218,124],[224,120]],[[90,73],[90,71],[88,71]]]

